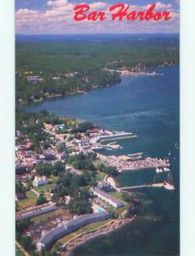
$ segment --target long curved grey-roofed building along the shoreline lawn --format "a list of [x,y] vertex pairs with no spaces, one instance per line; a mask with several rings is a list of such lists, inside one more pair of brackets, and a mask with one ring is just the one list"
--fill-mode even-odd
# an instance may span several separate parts
[[41,239],[37,242],[37,250],[41,251],[42,248],[48,247],[54,241],[60,239],[62,236],[66,236],[73,231],[83,227],[86,224],[90,224],[96,221],[105,220],[109,218],[109,213],[98,212],[98,213],[91,213],[85,214],[81,217],[72,219],[70,222],[66,224],[61,224],[60,226],[54,228],[53,230],[49,230],[49,232],[45,233]]

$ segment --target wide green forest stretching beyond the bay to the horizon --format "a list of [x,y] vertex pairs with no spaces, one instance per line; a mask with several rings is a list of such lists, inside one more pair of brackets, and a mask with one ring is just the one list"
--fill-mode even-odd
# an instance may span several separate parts
[[[135,40],[136,41],[136,40]],[[66,96],[120,81],[118,68],[157,67],[179,62],[175,40],[152,44],[140,40],[121,44],[120,39],[83,42],[16,42],[16,102],[33,102],[50,96]],[[70,44],[71,43],[71,44]],[[112,72],[110,71],[112,69]],[[29,77],[38,76],[36,81]]]

